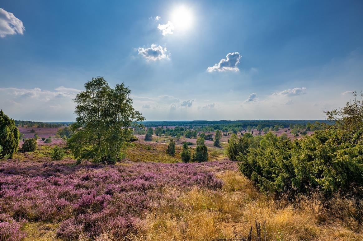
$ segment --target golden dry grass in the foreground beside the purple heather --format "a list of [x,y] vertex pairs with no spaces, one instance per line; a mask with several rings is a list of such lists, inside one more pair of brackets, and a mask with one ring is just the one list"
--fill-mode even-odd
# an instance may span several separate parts
[[[219,177],[225,183],[222,190],[165,190],[171,197],[177,196],[176,200],[149,213],[145,232],[139,233],[138,238],[160,241],[246,238],[257,220],[262,223],[266,240],[363,240],[362,227],[351,217],[354,208],[349,201],[336,199],[327,211],[315,198],[291,203],[261,195],[237,172],[227,171]],[[344,213],[343,217],[330,216],[332,209]]]

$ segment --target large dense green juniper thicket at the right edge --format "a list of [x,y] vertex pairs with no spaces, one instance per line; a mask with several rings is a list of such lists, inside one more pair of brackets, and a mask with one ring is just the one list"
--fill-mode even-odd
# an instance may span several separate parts
[[266,134],[257,146],[248,147],[247,156],[236,157],[241,172],[262,191],[277,195],[294,197],[319,190],[327,196],[337,192],[362,196],[362,101],[326,112],[336,124],[322,124],[323,130],[300,140]]

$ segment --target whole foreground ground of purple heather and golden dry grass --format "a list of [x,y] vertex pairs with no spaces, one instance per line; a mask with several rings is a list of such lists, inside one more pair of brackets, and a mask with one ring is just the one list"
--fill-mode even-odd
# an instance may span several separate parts
[[275,201],[236,162],[154,160],[164,146],[142,142],[111,166],[76,166],[68,150],[52,161],[51,145],[1,161],[1,240],[247,238],[255,220],[264,240],[363,238],[349,199],[333,199],[329,208],[317,198]]

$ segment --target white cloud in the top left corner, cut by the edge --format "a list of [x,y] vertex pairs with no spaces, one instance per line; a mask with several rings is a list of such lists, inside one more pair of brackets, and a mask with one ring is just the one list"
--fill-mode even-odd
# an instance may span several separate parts
[[23,34],[25,31],[23,22],[16,18],[14,14],[0,8],[0,37],[7,35]]

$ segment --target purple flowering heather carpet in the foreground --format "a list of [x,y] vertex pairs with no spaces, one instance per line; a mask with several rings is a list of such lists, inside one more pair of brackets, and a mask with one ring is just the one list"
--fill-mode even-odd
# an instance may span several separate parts
[[[72,161],[0,162],[0,240],[21,240],[16,220],[59,223],[65,240],[94,239],[103,233],[119,240],[137,233],[143,215],[158,207],[167,188],[220,189],[213,174],[236,170],[236,163],[127,162],[115,166]],[[10,236],[9,236],[10,235]]]

